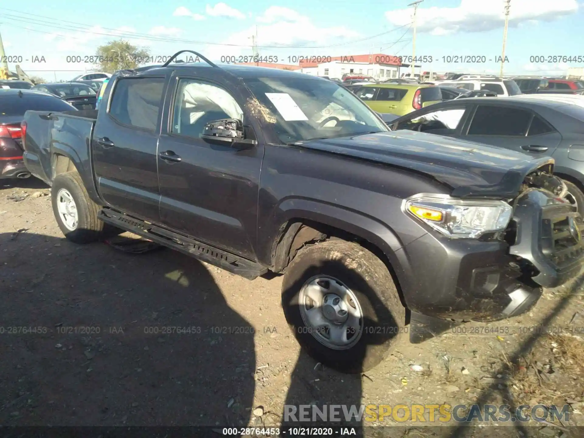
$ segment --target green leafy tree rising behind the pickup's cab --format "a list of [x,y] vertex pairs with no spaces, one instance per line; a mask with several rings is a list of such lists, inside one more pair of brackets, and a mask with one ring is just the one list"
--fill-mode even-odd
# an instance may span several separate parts
[[136,68],[146,64],[150,57],[150,49],[136,47],[120,39],[99,46],[95,55],[99,70],[113,73],[116,70]]

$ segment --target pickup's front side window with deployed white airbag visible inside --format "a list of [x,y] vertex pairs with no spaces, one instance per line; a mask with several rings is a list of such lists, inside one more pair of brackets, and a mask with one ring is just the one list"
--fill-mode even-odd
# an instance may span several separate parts
[[211,121],[243,118],[241,107],[223,88],[196,79],[180,79],[172,117],[173,134],[198,138]]

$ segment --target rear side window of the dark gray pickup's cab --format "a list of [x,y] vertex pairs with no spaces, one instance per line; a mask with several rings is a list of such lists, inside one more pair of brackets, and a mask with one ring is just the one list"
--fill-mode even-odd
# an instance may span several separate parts
[[164,81],[164,78],[119,79],[113,91],[110,116],[126,125],[155,130]]

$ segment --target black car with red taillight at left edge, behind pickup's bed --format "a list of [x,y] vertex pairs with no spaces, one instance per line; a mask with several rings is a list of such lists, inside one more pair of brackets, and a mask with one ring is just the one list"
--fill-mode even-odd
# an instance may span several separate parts
[[0,91],[0,178],[30,176],[22,161],[23,129],[20,126],[27,110],[69,111],[75,107],[39,91],[15,88]]

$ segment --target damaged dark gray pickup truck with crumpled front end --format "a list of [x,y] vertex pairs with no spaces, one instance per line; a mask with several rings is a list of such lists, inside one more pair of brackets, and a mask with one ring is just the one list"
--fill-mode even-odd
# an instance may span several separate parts
[[392,133],[335,82],[200,58],[117,73],[99,110],[26,113],[25,163],[68,239],[128,230],[248,279],[283,273],[297,339],[348,372],[580,272],[551,158]]

